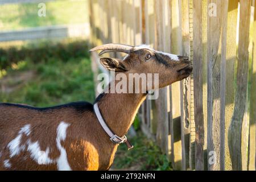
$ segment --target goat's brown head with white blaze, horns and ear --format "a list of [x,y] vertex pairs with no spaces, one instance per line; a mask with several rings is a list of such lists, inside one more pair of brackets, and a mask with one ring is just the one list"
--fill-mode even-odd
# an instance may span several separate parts
[[183,80],[192,72],[192,64],[188,57],[155,51],[145,45],[105,44],[90,49],[90,52],[97,50],[101,50],[99,55],[106,52],[127,53],[123,60],[102,57],[100,62],[106,69],[115,72],[159,73],[159,88]]

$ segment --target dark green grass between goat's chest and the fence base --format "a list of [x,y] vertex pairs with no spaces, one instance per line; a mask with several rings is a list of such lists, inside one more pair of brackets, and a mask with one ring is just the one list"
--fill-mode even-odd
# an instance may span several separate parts
[[166,155],[163,155],[156,143],[148,140],[141,131],[130,142],[134,148],[129,151],[126,144],[118,147],[113,169],[171,170],[171,163]]

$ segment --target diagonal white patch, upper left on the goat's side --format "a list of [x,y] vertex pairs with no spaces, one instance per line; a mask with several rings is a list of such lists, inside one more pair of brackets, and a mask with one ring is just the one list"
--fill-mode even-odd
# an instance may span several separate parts
[[29,135],[30,134],[30,125],[25,125],[22,127],[19,131],[19,134],[16,138],[11,140],[10,143],[8,143],[7,147],[10,150],[10,158],[12,158],[15,155],[18,155],[21,150],[24,150],[25,147],[20,147],[20,139],[22,138],[22,134]]

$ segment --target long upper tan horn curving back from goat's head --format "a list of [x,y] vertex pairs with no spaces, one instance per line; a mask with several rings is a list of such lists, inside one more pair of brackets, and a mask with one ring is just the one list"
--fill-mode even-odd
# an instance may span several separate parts
[[100,52],[100,55],[102,55],[106,52],[130,53],[133,48],[134,48],[134,46],[129,46],[129,45],[125,45],[125,44],[104,44],[104,45],[97,46],[97,47],[90,49],[89,52],[102,50]]

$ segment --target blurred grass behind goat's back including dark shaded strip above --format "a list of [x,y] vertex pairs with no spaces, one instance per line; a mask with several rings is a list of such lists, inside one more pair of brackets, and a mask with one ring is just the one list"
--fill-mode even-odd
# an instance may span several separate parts
[[[2,65],[4,69],[0,72],[0,85],[15,88],[12,92],[0,90],[0,102],[51,106],[72,101],[94,101],[93,73],[86,43],[40,43],[37,46],[1,49],[0,52],[0,59],[5,60],[5,67]],[[15,55],[15,58],[8,55]],[[6,61],[9,64],[4,64]],[[20,80],[30,72],[32,78]]]

